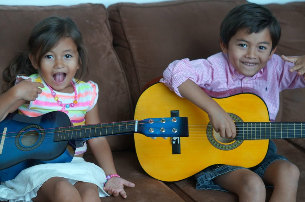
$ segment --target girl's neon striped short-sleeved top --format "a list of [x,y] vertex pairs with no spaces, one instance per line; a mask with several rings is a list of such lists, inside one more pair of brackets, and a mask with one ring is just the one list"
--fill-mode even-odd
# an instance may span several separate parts
[[[39,76],[39,74],[33,74],[29,77],[27,76],[17,76],[15,84],[22,81],[23,79],[31,78],[34,82],[41,82],[45,86],[42,89],[42,93],[38,95],[38,98],[35,101],[30,101],[19,107],[19,113],[28,117],[38,117],[45,113],[61,110],[62,107],[57,104],[54,100],[54,97],[51,95],[51,90],[45,84],[45,81]],[[68,111],[68,116],[73,123],[73,125],[84,125],[85,124],[85,114],[90,111],[95,104],[99,96],[99,88],[95,82],[88,81],[77,82],[76,79],[73,79],[77,90],[77,104],[73,107],[66,108]],[[63,104],[70,104],[74,101],[75,93],[64,93],[57,92],[56,96],[59,97],[59,100]],[[84,144],[83,147],[77,148],[75,155],[86,152],[87,146]]]

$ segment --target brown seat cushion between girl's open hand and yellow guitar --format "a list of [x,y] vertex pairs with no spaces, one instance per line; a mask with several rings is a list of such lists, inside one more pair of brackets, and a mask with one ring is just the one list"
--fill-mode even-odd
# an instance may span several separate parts
[[[97,163],[92,155],[85,155],[87,161]],[[173,190],[163,182],[153,179],[145,173],[138,163],[134,152],[113,152],[114,165],[117,173],[124,179],[135,183],[135,187],[125,187],[127,198],[106,197],[102,198],[105,202],[124,201],[149,201],[149,202],[184,202]]]

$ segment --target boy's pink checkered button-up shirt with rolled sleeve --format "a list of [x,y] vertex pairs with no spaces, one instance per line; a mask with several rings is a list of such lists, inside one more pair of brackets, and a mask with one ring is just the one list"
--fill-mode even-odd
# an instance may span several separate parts
[[279,108],[279,92],[305,86],[303,76],[289,72],[294,64],[273,54],[266,66],[252,77],[239,74],[227,54],[217,53],[207,59],[176,60],[163,72],[160,82],[181,96],[178,86],[187,79],[199,85],[209,96],[221,98],[238,93],[254,93],[266,103],[270,120],[274,121]]

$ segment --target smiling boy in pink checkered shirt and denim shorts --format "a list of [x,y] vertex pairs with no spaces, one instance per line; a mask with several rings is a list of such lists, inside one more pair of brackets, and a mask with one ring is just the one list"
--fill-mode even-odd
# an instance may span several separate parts
[[[236,127],[231,117],[212,97],[250,92],[266,103],[270,120],[279,108],[279,92],[305,86],[305,57],[279,57],[274,54],[281,36],[280,25],[265,7],[239,5],[221,23],[222,53],[209,58],[174,61],[163,73],[163,82],[204,110],[221,137],[234,138]],[[270,201],[296,201],[299,169],[276,154],[272,141],[264,160],[246,169],[212,165],[197,173],[197,189],[226,190],[239,201],[266,200],[265,186],[273,186]]]

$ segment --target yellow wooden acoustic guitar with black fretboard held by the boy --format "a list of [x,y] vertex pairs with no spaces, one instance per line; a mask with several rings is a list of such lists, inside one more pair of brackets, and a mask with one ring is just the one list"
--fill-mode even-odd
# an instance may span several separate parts
[[189,137],[156,138],[134,135],[135,149],[142,168],[162,181],[177,181],[214,164],[253,167],[267,153],[269,139],[305,137],[305,124],[269,122],[264,101],[254,94],[213,98],[235,121],[235,139],[221,138],[207,114],[163,83],[146,89],[138,99],[135,119],[169,116],[178,111],[188,117]]

